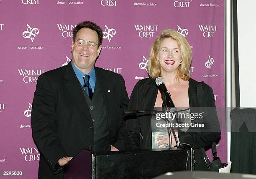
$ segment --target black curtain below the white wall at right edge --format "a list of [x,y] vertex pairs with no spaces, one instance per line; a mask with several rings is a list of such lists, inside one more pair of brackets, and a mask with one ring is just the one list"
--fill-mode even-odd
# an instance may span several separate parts
[[235,173],[256,174],[256,109],[234,108],[230,118],[231,170]]

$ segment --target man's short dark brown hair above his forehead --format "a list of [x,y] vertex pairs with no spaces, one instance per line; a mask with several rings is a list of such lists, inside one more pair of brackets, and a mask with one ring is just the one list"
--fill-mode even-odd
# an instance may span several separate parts
[[77,26],[73,29],[73,40],[76,40],[77,32],[81,28],[89,28],[91,30],[95,30],[98,34],[98,39],[99,39],[98,44],[101,45],[102,38],[103,38],[102,29],[100,28],[100,26],[98,26],[97,24],[95,24],[91,21],[84,21],[82,23],[77,24]]

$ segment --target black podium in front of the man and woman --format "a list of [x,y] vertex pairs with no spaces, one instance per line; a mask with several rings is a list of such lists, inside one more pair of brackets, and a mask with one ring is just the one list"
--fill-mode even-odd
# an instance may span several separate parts
[[173,171],[193,169],[193,149],[151,149],[94,153],[80,151],[64,167],[64,179],[153,178]]

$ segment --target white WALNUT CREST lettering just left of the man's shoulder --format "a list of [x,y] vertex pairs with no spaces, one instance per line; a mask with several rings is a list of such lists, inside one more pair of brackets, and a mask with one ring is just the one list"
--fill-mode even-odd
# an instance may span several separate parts
[[36,83],[38,76],[43,74],[45,69],[27,70],[18,69],[20,76],[23,76],[24,83]]

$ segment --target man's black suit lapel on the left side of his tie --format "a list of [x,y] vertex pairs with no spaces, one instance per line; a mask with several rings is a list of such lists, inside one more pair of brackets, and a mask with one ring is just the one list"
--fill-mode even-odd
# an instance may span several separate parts
[[69,91],[71,96],[74,98],[74,101],[77,103],[78,108],[82,111],[85,118],[93,124],[92,117],[86,100],[84,98],[80,82],[78,81],[77,76],[74,73],[71,62],[67,65],[67,70],[64,77],[68,80],[67,83],[65,83],[67,91]]

